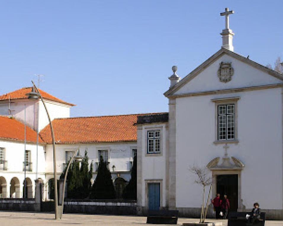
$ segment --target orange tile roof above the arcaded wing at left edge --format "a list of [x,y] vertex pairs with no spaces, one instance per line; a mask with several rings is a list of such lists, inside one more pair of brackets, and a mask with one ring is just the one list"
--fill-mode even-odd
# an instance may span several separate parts
[[[24,141],[25,140],[25,125],[15,118],[0,116],[0,139]],[[26,141],[36,143],[36,131],[26,126]],[[38,142],[43,143],[40,136]]]

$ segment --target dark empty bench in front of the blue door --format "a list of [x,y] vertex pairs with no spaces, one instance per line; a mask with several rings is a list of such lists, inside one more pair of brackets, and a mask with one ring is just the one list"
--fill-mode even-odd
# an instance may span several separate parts
[[147,224],[176,225],[178,213],[178,210],[151,210],[147,214]]

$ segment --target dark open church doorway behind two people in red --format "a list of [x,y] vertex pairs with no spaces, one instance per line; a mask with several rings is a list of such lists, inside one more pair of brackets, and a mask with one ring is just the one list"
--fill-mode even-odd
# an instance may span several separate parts
[[221,199],[227,195],[230,201],[230,211],[238,209],[238,174],[217,175],[216,193],[220,194]]

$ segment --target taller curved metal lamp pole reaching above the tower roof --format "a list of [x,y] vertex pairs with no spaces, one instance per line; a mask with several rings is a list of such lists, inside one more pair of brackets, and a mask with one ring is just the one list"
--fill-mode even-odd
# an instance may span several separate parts
[[53,144],[53,166],[54,166],[54,200],[55,200],[55,219],[58,220],[60,217],[58,216],[58,194],[57,194],[57,177],[56,177],[56,150],[55,150],[55,138],[54,138],[54,131],[53,131],[53,126],[51,123],[51,119],[48,113],[48,110],[46,108],[46,105],[44,103],[44,100],[39,92],[39,90],[37,89],[36,85],[34,84],[33,81],[31,81],[33,83],[33,87],[35,88],[36,92],[38,93],[38,96],[40,97],[43,106],[45,108],[48,120],[49,120],[49,125],[50,125],[50,129],[51,129],[51,135],[52,135],[52,144]]

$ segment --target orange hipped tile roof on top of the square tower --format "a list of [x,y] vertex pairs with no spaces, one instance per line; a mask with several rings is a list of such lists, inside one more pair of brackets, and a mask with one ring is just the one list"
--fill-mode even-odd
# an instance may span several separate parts
[[[7,94],[4,94],[2,96],[0,96],[0,100],[9,100],[9,97],[11,100],[15,100],[15,99],[28,99],[28,96],[26,94],[28,94],[29,92],[31,92],[32,87],[24,87],[21,88],[19,90],[15,90],[13,92],[9,92]],[[71,103],[67,103],[63,100],[58,99],[57,97],[54,97],[52,95],[50,95],[47,92],[44,92],[43,90],[38,89],[41,96],[46,99],[46,100],[52,100],[55,102],[59,102],[59,103],[63,103],[66,105],[70,105],[70,106],[74,106],[74,104]]]

